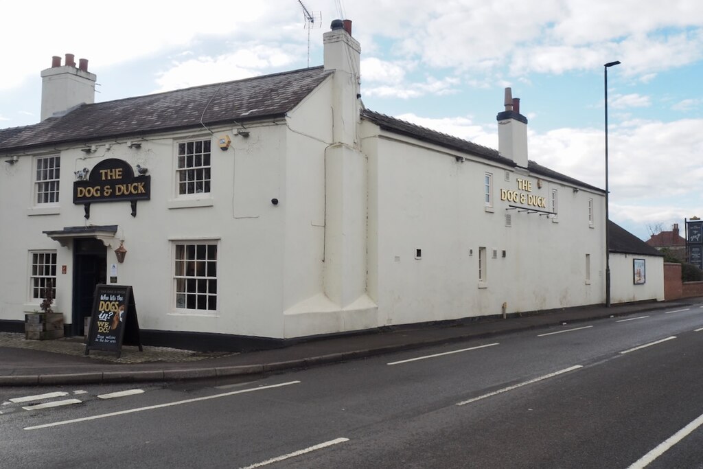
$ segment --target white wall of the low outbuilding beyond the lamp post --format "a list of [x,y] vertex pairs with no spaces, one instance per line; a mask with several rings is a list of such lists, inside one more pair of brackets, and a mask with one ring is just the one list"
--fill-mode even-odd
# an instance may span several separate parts
[[[645,283],[635,285],[633,259],[645,259]],[[610,301],[664,301],[664,257],[610,253]]]

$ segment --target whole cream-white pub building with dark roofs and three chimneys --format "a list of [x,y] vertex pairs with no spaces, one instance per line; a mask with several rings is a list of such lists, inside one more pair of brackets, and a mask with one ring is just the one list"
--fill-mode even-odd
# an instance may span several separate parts
[[[351,33],[321,67],[103,103],[54,57],[41,122],[0,129],[0,330],[46,285],[69,334],[131,285],[143,342],[201,349],[604,303],[605,193],[528,160],[510,89],[498,150],[376,113]],[[619,301],[663,299],[646,259]]]

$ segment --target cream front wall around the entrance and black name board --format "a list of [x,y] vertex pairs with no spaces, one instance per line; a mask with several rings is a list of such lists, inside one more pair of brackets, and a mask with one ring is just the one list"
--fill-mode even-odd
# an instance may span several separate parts
[[[15,203],[4,207],[1,239],[10,240],[4,250],[6,265],[0,281],[0,319],[22,319],[25,311],[38,309],[29,302],[28,250],[57,250],[56,310],[71,322],[72,250],[62,248],[42,231],[84,226],[83,205],[73,205],[73,171],[91,169],[104,158],[120,158],[132,167],[141,164],[151,175],[151,200],[138,202],[131,217],[128,202],[93,203],[93,225],[119,226],[116,237],[124,239],[127,257],[118,264],[117,283],[134,285],[141,328],[240,335],[282,337],[284,212],[271,198],[285,193],[285,125],[249,127],[250,136],[234,136],[220,129],[214,136],[193,132],[189,139],[212,139],[212,193],[183,202],[175,197],[174,141],[172,136],[150,137],[141,149],[127,148],[126,140],[110,150],[98,143],[96,153],[78,148],[61,154],[60,205],[53,210],[28,210],[32,206],[32,157],[22,156],[0,173],[2,199]],[[232,147],[219,150],[217,137],[229,134]],[[52,153],[53,154],[53,153]],[[285,200],[285,196],[280,196]],[[32,214],[34,213],[34,214]],[[173,240],[218,240],[219,307],[216,313],[182,314],[176,311],[173,292]],[[108,248],[108,269],[116,263]],[[60,274],[60,266],[67,274]],[[108,272],[109,276],[109,272]]]

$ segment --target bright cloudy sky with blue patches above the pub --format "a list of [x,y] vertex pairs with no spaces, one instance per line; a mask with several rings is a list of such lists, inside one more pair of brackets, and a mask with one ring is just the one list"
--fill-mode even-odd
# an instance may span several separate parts
[[89,59],[96,101],[110,101],[321,65],[322,34],[344,17],[361,42],[367,108],[498,148],[511,86],[530,159],[601,188],[603,64],[620,60],[608,72],[611,219],[647,239],[652,225],[703,217],[702,1],[303,3],[310,30],[298,0],[11,2],[0,128],[39,121],[51,56]]

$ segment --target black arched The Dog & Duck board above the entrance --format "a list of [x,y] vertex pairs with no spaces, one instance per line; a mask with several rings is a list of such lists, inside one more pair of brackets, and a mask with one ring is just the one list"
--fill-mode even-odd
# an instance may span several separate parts
[[87,180],[73,183],[73,203],[86,205],[86,218],[90,217],[90,204],[94,202],[132,203],[132,216],[136,216],[136,201],[151,197],[151,176],[134,176],[128,162],[108,158],[99,162]]

